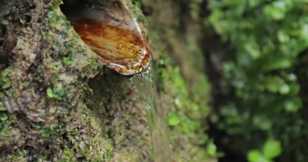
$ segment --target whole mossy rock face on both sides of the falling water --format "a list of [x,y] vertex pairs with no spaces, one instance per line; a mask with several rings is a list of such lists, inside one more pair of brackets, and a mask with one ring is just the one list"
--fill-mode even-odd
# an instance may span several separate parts
[[[208,91],[191,96],[188,89],[209,90],[206,77],[194,70],[191,57],[188,64],[180,59],[180,68],[171,61],[166,49],[180,45],[161,35],[164,29],[154,25],[160,17],[148,17],[147,24],[136,2],[125,1],[153,29],[147,38],[158,60],[162,105],[171,112],[172,160],[216,156],[203,122]],[[0,4],[0,161],[151,161],[146,109],[136,88],[128,77],[97,62],[62,14],[62,1]],[[166,29],[168,36],[181,37],[171,33],[171,26]],[[153,44],[160,35],[168,39],[167,46]],[[195,44],[184,50],[198,51]]]

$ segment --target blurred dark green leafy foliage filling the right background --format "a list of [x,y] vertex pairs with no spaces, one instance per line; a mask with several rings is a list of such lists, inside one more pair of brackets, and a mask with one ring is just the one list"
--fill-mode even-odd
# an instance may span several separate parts
[[[205,24],[227,45],[220,83],[225,99],[211,116],[226,133],[225,145],[236,144],[244,156],[275,138],[284,151],[279,161],[307,161],[306,99],[300,95],[305,83],[297,71],[308,48],[308,1],[212,0],[208,7]],[[272,160],[278,153],[264,152],[267,144],[249,157]]]

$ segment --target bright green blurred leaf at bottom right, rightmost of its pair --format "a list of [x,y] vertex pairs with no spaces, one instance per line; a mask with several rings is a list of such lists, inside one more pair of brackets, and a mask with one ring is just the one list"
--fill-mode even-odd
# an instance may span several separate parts
[[280,141],[274,139],[268,139],[263,148],[262,152],[267,159],[273,159],[277,157],[282,151]]

